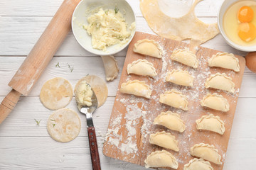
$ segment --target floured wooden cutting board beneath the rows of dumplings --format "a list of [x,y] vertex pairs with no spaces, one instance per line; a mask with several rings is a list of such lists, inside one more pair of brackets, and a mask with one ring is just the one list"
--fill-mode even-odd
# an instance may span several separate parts
[[[144,38],[153,39],[159,42],[159,44],[164,48],[163,59],[139,55],[133,52],[132,49],[134,47],[134,43]],[[195,51],[196,56],[200,60],[198,69],[187,67],[186,65],[174,62],[169,58],[173,50],[184,48],[191,48],[191,50]],[[103,147],[103,154],[107,157],[144,166],[144,160],[147,155],[155,150],[163,149],[156,145],[151,145],[149,143],[149,135],[153,132],[165,130],[166,132],[171,132],[172,135],[175,135],[178,140],[179,152],[166,149],[171,152],[171,154],[174,154],[174,157],[178,160],[178,169],[183,169],[183,165],[193,159],[189,154],[189,149],[193,147],[193,145],[201,142],[214,145],[215,148],[218,149],[218,152],[222,157],[222,164],[210,164],[215,170],[223,169],[228,140],[235,115],[235,108],[238,102],[238,94],[242,83],[242,75],[245,69],[245,59],[244,57],[235,55],[238,57],[240,64],[240,72],[238,73],[228,69],[208,67],[208,58],[215,55],[217,52],[220,51],[208,49],[206,47],[192,48],[185,42],[169,40],[146,33],[136,33],[127,51]],[[158,74],[156,79],[139,77],[134,74],[127,75],[127,64],[138,59],[146,59],[154,64]],[[195,77],[194,86],[184,87],[165,82],[164,79],[166,72],[171,72],[172,69],[188,70],[188,72]],[[225,73],[228,77],[232,77],[233,82],[235,83],[235,94],[228,94],[225,91],[206,89],[204,87],[204,83],[210,74],[215,74],[217,72]],[[145,81],[146,84],[151,84],[150,86],[153,90],[151,98],[146,99],[129,94],[121,94],[119,92],[121,84],[129,79],[139,79],[140,81]],[[178,91],[182,91],[183,94],[188,96],[188,111],[181,111],[180,109],[159,103],[160,94],[164,94],[164,91],[171,89],[178,89]],[[200,101],[208,92],[217,92],[218,94],[223,95],[224,98],[227,98],[230,103],[230,111],[222,113],[220,111],[203,108]],[[161,125],[153,125],[154,118],[156,118],[156,116],[162,111],[172,111],[180,114],[181,119],[184,120],[186,124],[186,130],[183,133],[179,133],[168,130]],[[209,113],[220,116],[224,121],[224,135],[219,135],[210,131],[196,130],[196,120],[201,118],[202,115],[208,115]]]

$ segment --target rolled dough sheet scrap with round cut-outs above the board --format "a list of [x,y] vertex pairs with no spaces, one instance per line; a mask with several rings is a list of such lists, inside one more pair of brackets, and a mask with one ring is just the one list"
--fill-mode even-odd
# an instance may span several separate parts
[[196,17],[194,8],[199,1],[196,0],[191,10],[179,18],[166,16],[157,0],[140,0],[140,8],[149,27],[156,34],[173,40],[191,39],[198,46],[219,33],[217,23],[203,23]]

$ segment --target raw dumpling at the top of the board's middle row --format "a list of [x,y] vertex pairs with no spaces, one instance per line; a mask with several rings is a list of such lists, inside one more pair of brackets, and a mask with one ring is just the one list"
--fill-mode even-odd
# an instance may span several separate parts
[[193,54],[193,52],[186,49],[174,50],[174,52],[171,54],[171,60],[174,60],[176,62],[181,62],[182,64],[193,67],[194,69],[196,69],[199,64],[199,61],[197,60],[196,55]]

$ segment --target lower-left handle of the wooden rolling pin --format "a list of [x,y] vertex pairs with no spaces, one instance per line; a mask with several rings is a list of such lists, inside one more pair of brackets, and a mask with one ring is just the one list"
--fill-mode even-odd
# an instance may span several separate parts
[[0,124],[5,120],[7,115],[11,113],[11,111],[16,106],[18,102],[18,98],[20,98],[21,94],[18,91],[12,89],[10,93],[4,98],[0,105]]

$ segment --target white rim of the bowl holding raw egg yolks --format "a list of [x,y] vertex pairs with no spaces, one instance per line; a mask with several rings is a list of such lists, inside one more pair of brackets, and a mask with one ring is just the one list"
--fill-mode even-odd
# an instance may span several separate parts
[[[225,0],[225,1],[227,1],[227,0]],[[220,11],[223,10],[223,8],[224,8],[223,6],[224,6],[225,1],[223,1],[223,4],[220,6],[220,8],[218,10],[218,15],[217,15],[218,28],[220,30],[220,34],[223,35],[223,38],[228,43],[228,45],[230,45],[231,47],[234,47],[237,50],[245,51],[245,52],[254,52],[254,51],[256,51],[256,45],[253,45],[253,46],[242,46],[242,45],[235,44],[235,42],[231,41],[228,38],[228,36],[225,34],[225,30],[223,30],[223,22],[220,23]],[[233,1],[232,4],[234,4],[236,1],[239,1],[239,0]],[[254,0],[252,0],[252,1],[254,1]],[[228,8],[229,7],[230,6],[228,6]]]

